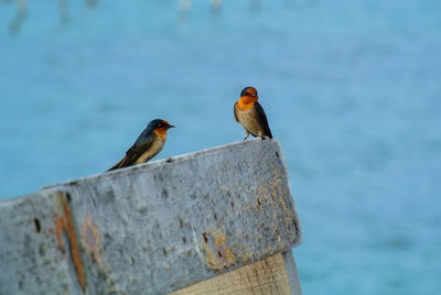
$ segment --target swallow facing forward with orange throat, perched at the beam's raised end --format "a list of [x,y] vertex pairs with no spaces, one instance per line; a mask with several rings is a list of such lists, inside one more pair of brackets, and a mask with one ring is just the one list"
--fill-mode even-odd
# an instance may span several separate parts
[[236,122],[239,122],[245,129],[245,139],[249,134],[257,138],[260,136],[272,139],[271,130],[268,125],[268,119],[263,108],[257,101],[259,96],[254,87],[245,87],[240,92],[240,98],[234,105],[234,114]]

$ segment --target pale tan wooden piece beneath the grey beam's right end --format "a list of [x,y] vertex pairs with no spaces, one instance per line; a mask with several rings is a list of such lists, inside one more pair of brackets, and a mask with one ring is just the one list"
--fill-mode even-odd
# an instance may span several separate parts
[[291,251],[215,276],[170,295],[301,295]]

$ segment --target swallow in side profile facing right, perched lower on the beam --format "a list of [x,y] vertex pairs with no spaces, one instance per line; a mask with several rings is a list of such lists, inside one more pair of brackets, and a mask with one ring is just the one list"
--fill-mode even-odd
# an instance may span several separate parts
[[150,121],[144,131],[138,136],[133,145],[126,152],[126,156],[107,172],[146,163],[161,152],[166,141],[166,131],[174,125],[165,120]]

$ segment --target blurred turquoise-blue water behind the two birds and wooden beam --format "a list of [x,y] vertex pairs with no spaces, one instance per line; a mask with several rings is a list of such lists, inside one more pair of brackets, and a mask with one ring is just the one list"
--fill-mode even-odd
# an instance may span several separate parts
[[304,294],[440,294],[441,2],[0,0],[0,198],[240,141],[259,90]]

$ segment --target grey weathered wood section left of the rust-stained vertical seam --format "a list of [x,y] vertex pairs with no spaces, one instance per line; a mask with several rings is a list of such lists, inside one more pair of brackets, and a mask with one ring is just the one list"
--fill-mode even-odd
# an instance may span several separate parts
[[0,294],[80,293],[63,204],[46,192],[0,203]]

